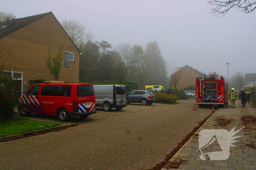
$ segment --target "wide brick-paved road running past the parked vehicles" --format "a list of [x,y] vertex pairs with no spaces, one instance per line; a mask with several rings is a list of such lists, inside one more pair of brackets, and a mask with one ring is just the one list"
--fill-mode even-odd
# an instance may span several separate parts
[[179,104],[159,107],[129,105],[122,114],[110,112],[100,121],[1,142],[0,169],[148,169],[162,161],[197,122],[210,114],[209,108],[193,111],[194,103],[195,100],[180,100]]

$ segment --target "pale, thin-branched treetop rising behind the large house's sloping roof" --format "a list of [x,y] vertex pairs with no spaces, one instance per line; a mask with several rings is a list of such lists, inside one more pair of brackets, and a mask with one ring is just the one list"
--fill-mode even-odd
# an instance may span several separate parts
[[89,40],[93,41],[94,39],[93,33],[87,31],[86,26],[75,19],[64,19],[61,25],[77,47],[82,46],[82,44]]

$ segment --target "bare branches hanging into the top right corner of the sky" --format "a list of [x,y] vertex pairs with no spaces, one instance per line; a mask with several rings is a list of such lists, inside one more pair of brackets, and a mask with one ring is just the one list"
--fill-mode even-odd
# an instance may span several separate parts
[[231,8],[237,8],[244,13],[251,13],[256,8],[256,0],[210,0],[207,3],[214,8],[211,8],[211,12],[218,17],[224,16]]

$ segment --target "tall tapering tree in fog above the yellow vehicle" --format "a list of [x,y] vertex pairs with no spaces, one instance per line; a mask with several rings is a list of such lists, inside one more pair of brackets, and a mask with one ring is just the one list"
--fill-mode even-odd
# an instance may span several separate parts
[[167,71],[157,42],[148,43],[144,54],[148,56],[147,67],[150,68],[147,73],[150,79],[147,79],[147,83],[151,85],[165,83]]

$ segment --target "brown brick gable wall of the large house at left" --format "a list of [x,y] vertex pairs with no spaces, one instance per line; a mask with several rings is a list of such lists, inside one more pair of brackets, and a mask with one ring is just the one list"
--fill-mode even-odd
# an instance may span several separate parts
[[3,51],[11,53],[11,70],[24,72],[23,92],[28,90],[29,80],[54,80],[46,66],[49,41],[51,57],[58,54],[62,44],[64,52],[75,53],[75,62],[69,62],[69,67],[64,67],[63,57],[58,81],[79,82],[79,51],[51,13],[0,39]]

